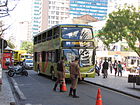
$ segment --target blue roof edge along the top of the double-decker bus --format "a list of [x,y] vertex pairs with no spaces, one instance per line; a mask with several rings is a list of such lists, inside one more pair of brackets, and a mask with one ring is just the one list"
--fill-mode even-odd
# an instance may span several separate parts
[[[52,26],[52,27],[50,27],[50,28],[48,28],[48,29],[46,29],[46,30],[44,30],[44,31],[42,31],[42,32],[40,32],[40,33],[38,33],[37,35],[35,35],[35,36],[38,36],[38,35],[40,35],[40,34],[42,34],[42,33],[44,33],[45,31],[48,31],[48,30],[50,30],[50,29],[52,29],[52,28],[55,28],[55,27],[59,27],[59,26],[87,26],[87,27],[92,27],[91,25],[87,25],[87,24],[57,24],[57,25],[54,25],[54,26]],[[33,37],[35,37],[35,36],[33,36]]]

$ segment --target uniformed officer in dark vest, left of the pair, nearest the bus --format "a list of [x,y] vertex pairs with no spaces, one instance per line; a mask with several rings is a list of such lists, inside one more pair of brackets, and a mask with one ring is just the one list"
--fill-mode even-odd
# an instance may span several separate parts
[[64,57],[57,63],[57,80],[55,82],[53,90],[56,91],[57,85],[60,84],[60,92],[62,92],[62,84],[65,82],[65,64]]

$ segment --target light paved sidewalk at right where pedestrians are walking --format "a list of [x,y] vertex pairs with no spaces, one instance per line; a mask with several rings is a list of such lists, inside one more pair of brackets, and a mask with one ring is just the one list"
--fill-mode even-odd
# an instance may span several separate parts
[[127,77],[127,73],[124,73],[123,77],[115,77],[114,73],[112,73],[108,75],[108,78],[104,79],[101,74],[95,78],[85,78],[85,81],[140,99],[140,85],[135,85],[135,88],[133,88],[133,83],[128,83]]

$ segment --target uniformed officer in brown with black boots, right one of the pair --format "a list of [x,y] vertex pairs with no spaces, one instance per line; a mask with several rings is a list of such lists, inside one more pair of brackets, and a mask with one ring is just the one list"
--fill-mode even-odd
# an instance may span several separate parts
[[81,74],[79,68],[79,58],[76,57],[75,60],[70,64],[71,87],[69,91],[69,96],[73,96],[73,98],[79,98],[79,96],[76,95],[78,78],[81,79]]

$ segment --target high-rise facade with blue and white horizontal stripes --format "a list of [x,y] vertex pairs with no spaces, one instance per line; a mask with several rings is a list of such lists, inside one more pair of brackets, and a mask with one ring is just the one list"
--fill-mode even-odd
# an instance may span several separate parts
[[107,16],[108,0],[70,0],[70,15],[91,15],[98,20]]

